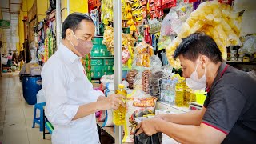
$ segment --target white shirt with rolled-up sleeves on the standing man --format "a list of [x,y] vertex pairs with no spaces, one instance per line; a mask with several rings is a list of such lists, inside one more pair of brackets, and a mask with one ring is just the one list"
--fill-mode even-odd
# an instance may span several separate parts
[[79,106],[96,102],[103,95],[93,89],[80,59],[61,44],[42,68],[45,113],[54,126],[54,144],[99,143],[95,114],[72,120]]

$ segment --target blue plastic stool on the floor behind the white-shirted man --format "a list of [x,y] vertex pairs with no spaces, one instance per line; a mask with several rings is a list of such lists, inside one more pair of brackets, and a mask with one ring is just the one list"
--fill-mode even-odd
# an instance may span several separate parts
[[[40,131],[44,130],[44,109],[43,107],[46,106],[46,102],[42,102],[42,103],[37,103],[34,105],[34,119],[33,119],[33,126],[32,128],[34,128],[34,124],[37,123],[40,126]],[[40,110],[40,117],[37,117],[37,109]]]

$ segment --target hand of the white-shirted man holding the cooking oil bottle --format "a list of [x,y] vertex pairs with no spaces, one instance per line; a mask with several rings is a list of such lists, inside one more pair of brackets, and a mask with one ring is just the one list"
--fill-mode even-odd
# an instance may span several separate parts
[[109,97],[106,97],[99,101],[100,110],[118,110],[119,106],[126,107],[126,104],[122,102],[121,98],[125,98],[125,96],[121,94],[112,94]]

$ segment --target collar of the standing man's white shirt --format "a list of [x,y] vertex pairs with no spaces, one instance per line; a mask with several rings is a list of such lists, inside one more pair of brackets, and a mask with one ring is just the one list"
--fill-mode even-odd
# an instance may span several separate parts
[[74,54],[69,48],[64,46],[62,43],[59,46],[59,50],[62,52],[64,58],[69,59],[71,63],[74,63],[75,60],[80,60],[82,57],[78,57],[77,54]]

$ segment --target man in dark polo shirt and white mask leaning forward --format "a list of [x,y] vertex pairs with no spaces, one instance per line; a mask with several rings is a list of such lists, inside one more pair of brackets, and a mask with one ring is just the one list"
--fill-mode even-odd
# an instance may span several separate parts
[[181,143],[255,143],[256,81],[249,74],[222,62],[212,38],[191,34],[175,50],[186,84],[207,87],[202,110],[160,114],[138,124],[137,134],[162,132]]

